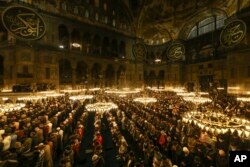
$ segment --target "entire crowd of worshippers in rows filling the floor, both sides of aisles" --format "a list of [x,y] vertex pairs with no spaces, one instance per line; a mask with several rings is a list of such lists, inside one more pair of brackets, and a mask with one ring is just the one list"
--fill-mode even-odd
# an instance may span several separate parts
[[[144,92],[145,93],[145,92]],[[107,118],[117,160],[123,167],[224,167],[229,151],[250,150],[250,139],[237,131],[215,134],[182,121],[190,110],[220,110],[228,116],[249,119],[249,103],[220,96],[215,103],[195,105],[174,92],[148,91],[156,103],[134,102],[144,93],[118,97],[101,95],[118,105],[117,110],[95,113],[92,164],[104,167],[101,135]],[[96,94],[98,96],[98,93]],[[0,164],[2,166],[76,166],[89,113],[68,96],[27,102],[19,111],[0,113]],[[136,148],[136,149],[135,149]]]

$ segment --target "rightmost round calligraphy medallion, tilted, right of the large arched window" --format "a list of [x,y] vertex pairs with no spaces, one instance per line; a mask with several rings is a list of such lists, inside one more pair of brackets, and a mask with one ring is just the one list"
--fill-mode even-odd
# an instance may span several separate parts
[[221,31],[220,42],[224,47],[237,45],[245,37],[246,24],[242,20],[229,22]]

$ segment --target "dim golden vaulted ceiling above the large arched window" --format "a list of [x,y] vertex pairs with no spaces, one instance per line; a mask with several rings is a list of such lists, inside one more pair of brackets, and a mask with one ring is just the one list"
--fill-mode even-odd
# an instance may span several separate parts
[[124,0],[137,37],[147,44],[185,38],[196,22],[214,15],[233,16],[250,0]]

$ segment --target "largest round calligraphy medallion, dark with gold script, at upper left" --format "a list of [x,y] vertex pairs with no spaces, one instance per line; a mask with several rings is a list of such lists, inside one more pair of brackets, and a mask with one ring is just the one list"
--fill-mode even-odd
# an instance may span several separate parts
[[37,40],[46,32],[46,25],[36,12],[22,6],[11,6],[3,11],[5,28],[23,40]]

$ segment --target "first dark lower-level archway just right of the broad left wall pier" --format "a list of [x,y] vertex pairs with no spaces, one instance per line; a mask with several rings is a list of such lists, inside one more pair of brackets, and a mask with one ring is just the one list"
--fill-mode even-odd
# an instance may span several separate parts
[[61,59],[59,61],[59,83],[72,83],[72,67],[70,61],[67,59]]

